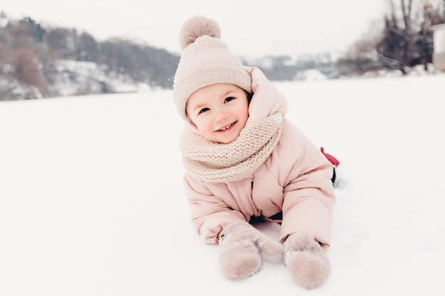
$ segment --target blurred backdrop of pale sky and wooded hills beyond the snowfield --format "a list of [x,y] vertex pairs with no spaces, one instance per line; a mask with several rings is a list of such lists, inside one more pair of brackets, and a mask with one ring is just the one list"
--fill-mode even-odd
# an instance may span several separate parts
[[195,14],[274,81],[445,71],[445,0],[156,2],[2,4],[0,101],[171,89]]

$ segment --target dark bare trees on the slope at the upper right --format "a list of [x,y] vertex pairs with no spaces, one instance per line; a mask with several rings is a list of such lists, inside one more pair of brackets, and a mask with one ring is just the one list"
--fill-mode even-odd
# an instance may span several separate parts
[[432,60],[431,26],[445,23],[445,0],[387,0],[387,13],[377,34],[353,43],[336,66],[341,72],[362,73],[375,67],[409,71]]

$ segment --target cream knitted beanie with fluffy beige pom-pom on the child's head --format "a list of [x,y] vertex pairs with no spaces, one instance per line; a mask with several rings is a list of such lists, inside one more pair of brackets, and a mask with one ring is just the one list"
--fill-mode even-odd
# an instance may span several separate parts
[[183,52],[173,83],[173,99],[184,119],[188,97],[202,87],[229,83],[252,92],[250,75],[220,35],[218,23],[203,16],[189,18],[181,29]]

